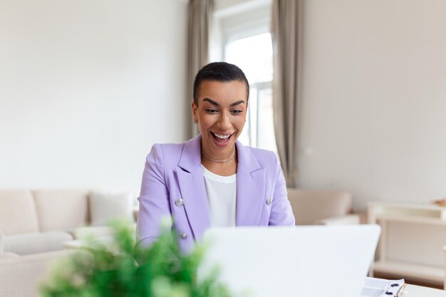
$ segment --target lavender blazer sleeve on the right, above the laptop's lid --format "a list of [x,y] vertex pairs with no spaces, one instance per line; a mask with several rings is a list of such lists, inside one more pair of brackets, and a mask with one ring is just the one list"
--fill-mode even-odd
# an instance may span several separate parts
[[276,162],[276,182],[274,186],[273,203],[271,204],[271,214],[269,216],[269,226],[294,226],[294,214],[286,192],[286,182],[284,173],[280,165],[279,157],[274,152]]

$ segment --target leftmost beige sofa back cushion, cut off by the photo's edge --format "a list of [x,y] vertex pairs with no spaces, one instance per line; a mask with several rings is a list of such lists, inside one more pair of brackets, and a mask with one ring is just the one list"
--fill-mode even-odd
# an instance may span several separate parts
[[0,191],[0,230],[5,235],[38,231],[36,209],[30,191]]

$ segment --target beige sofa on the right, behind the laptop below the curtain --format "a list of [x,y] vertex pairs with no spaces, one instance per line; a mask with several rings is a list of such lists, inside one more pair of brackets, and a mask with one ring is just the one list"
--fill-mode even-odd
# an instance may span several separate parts
[[353,214],[351,193],[337,190],[288,189],[296,225],[360,224]]

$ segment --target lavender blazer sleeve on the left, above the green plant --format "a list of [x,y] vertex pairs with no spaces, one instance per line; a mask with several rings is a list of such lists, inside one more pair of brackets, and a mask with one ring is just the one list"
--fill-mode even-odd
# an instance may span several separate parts
[[161,227],[172,226],[169,191],[165,181],[162,146],[155,144],[147,155],[138,201],[140,212],[136,226],[137,246],[150,246]]

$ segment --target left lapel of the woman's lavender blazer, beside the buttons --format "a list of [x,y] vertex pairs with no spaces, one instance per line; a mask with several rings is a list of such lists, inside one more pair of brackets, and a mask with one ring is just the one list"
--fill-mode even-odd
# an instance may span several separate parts
[[177,167],[178,183],[185,202],[187,219],[198,241],[202,239],[204,231],[211,226],[206,186],[200,166],[200,142],[201,137],[197,136],[185,143]]

